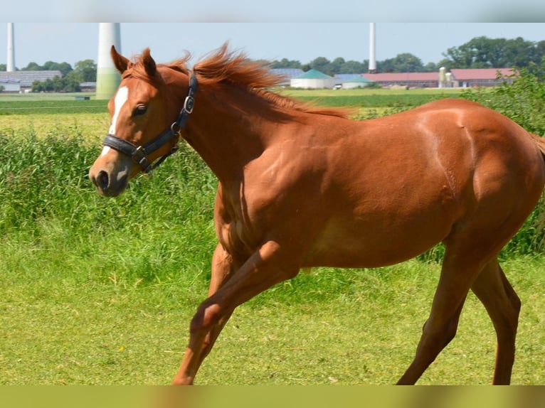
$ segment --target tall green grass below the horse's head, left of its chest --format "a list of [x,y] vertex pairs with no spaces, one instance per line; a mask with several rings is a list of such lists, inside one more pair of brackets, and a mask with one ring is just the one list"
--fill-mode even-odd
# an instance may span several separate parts
[[33,248],[37,264],[72,257],[58,259],[60,269],[78,264],[96,279],[161,281],[191,258],[208,270],[216,181],[194,151],[183,146],[157,176],[137,178],[109,200],[87,174],[100,146],[73,131],[58,129],[45,139],[33,130],[0,133],[4,247]]

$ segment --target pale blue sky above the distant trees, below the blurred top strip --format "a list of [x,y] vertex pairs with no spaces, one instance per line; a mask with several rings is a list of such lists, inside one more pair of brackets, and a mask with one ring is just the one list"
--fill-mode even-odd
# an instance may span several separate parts
[[[2,23],[0,44],[7,45],[7,23]],[[193,61],[229,41],[253,59],[299,60],[317,57],[329,60],[363,61],[369,58],[369,23],[121,23],[121,52],[130,57],[146,47],[158,63],[181,58],[185,51]],[[15,65],[43,65],[47,61],[97,62],[98,23],[14,23]],[[412,53],[424,64],[438,63],[448,48],[478,36],[545,41],[545,23],[376,23],[376,59]],[[7,47],[6,47],[7,48]],[[5,64],[7,51],[0,53]]]

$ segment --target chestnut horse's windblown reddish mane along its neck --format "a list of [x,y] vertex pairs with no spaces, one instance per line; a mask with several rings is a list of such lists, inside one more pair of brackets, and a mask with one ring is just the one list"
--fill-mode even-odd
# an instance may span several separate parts
[[[166,65],[172,70],[188,74],[188,62],[191,54],[186,53],[184,58],[175,60]],[[290,97],[278,95],[268,89],[277,87],[285,79],[282,75],[272,73],[268,64],[248,59],[245,53],[231,51],[228,43],[214,53],[199,60],[192,68],[199,84],[210,87],[222,87],[233,84],[248,92],[258,95],[269,102],[273,107],[285,111],[296,110],[314,114],[347,117],[351,112],[348,109],[332,109],[316,107],[312,104],[300,102]],[[132,66],[132,75],[145,75],[143,64]]]

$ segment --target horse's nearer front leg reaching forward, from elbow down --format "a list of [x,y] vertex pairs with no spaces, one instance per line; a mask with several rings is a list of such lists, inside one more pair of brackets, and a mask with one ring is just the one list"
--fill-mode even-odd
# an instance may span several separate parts
[[237,306],[270,286],[295,277],[299,266],[286,255],[277,242],[267,242],[234,274],[227,274],[228,279],[203,301],[191,320],[189,345],[174,377],[175,385],[193,384],[199,366]]

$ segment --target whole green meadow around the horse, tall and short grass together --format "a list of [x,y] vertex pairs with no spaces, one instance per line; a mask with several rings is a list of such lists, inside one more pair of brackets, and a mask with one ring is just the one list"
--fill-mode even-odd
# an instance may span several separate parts
[[[365,105],[370,116],[442,95],[286,92],[335,106],[376,98]],[[102,198],[87,171],[109,124],[105,101],[13,102],[0,98],[0,385],[168,384],[207,292],[216,179],[182,146],[124,195]],[[519,385],[545,380],[540,214],[502,254],[523,302]],[[319,268],[273,287],[237,309],[196,382],[396,382],[428,317],[440,254],[381,269]],[[470,294],[457,337],[419,384],[488,384],[494,353],[492,323]]]

